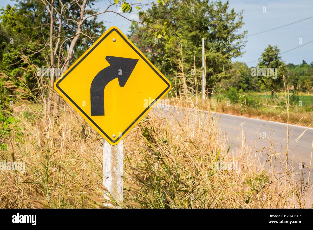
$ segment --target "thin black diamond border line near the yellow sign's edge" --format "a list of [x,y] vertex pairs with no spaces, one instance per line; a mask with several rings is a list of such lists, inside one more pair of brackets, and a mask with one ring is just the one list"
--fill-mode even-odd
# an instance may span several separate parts
[[[150,66],[151,69],[154,70],[154,72],[167,84],[166,89],[163,90],[163,92],[126,128],[126,130],[124,130],[124,132],[122,132],[121,135],[119,135],[117,137],[116,140],[112,140],[110,138],[109,135],[107,135],[105,133],[105,131],[103,131],[99,125],[97,125],[97,123],[95,123],[94,120],[91,119],[91,117],[89,115],[87,115],[85,113],[84,110],[82,110],[75,102],[74,100],[72,100],[69,95],[67,95],[63,89],[60,88],[59,84],[66,78],[67,75],[69,75],[73,69],[75,69],[81,61],[83,61],[101,42],[104,41],[104,39],[110,35],[110,33],[112,33],[113,31],[115,31],[116,33],[118,33],[118,35],[120,35],[121,38],[124,39],[124,41],[136,52],[136,54],[139,55],[139,57],[141,57],[142,60],[144,60],[146,62],[146,64],[148,64],[148,66]],[[136,123],[137,120],[139,120],[139,118],[147,111],[151,108],[151,106],[156,103],[156,101],[170,88],[170,84],[162,77],[161,74],[158,73],[158,71],[156,70],[156,68],[154,68],[136,49],[135,47],[129,43],[129,41],[127,41],[127,39],[115,28],[112,28],[92,49],[89,50],[89,52],[87,54],[84,55],[84,57],[82,59],[79,60],[79,62],[77,62],[73,68],[71,68],[56,84],[56,87],[112,142],[112,143],[116,143],[117,141],[119,141],[121,139],[121,137],[131,128],[132,125],[134,125]]]

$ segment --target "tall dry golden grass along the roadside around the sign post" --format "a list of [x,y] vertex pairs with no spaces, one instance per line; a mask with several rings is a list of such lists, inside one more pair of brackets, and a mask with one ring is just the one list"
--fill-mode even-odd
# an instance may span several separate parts
[[[197,97],[199,72],[177,69],[174,107],[157,108],[124,139],[125,208],[307,207],[309,188],[277,177],[242,145],[230,152],[208,101]],[[193,69],[196,69],[193,67]],[[190,79],[195,79],[192,84]],[[196,88],[194,88],[196,87]],[[179,91],[179,92],[177,92]],[[215,110],[216,108],[214,108]],[[41,102],[20,100],[2,161],[23,161],[25,172],[0,171],[1,208],[102,208],[102,138],[66,103],[44,119]],[[217,167],[234,163],[235,169]],[[282,161],[284,165],[285,161]]]

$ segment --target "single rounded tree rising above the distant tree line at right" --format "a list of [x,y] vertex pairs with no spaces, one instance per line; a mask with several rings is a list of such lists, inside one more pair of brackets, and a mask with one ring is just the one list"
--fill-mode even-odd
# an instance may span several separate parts
[[274,95],[276,89],[284,86],[283,74],[284,62],[281,60],[280,49],[277,46],[268,45],[259,59],[256,68],[259,76],[259,84],[262,89],[270,89]]

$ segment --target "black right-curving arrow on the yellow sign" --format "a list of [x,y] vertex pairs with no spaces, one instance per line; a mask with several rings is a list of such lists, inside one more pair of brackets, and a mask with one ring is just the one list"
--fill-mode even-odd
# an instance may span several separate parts
[[102,69],[92,80],[90,86],[91,116],[104,116],[104,89],[113,79],[118,78],[121,87],[124,87],[133,72],[138,59],[106,56],[110,66]]

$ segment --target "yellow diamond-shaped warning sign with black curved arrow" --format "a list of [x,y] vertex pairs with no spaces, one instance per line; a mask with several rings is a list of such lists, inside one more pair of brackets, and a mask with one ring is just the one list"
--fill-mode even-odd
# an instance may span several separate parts
[[111,145],[171,88],[171,83],[116,27],[108,29],[54,88]]

